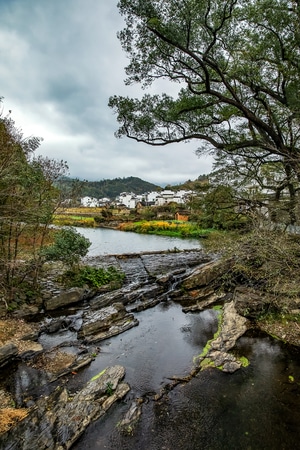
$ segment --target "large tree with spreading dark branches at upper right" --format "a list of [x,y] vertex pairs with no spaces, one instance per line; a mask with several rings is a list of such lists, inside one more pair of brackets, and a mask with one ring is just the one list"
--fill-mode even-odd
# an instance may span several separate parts
[[[300,181],[300,6],[289,0],[120,0],[126,82],[178,83],[176,97],[113,96],[116,135],[150,145],[199,140],[275,164],[294,209]],[[293,211],[291,222],[295,221]]]

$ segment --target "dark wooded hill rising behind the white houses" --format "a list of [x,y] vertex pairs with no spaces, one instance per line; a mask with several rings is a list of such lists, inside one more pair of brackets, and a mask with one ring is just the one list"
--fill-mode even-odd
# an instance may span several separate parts
[[[74,182],[78,183],[78,180],[65,177],[60,180],[59,186],[65,191],[71,190],[71,186]],[[79,182],[80,197],[94,197],[103,198],[108,197],[114,199],[121,192],[133,192],[135,194],[143,194],[149,191],[160,191],[162,188],[148,181],[141,180],[137,177],[127,178],[114,178],[113,180],[101,180],[101,181],[82,181]]]

